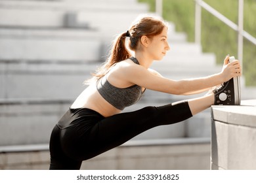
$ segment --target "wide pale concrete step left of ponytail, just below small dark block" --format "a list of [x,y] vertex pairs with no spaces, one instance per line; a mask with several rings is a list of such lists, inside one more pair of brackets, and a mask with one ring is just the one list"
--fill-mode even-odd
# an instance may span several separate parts
[[[26,36],[0,37],[0,59],[38,59],[38,60],[87,60],[98,61],[101,56],[102,41],[96,39],[87,31],[83,36],[72,37],[44,37]],[[84,35],[84,34],[83,34]],[[63,34],[62,34],[63,36]]]

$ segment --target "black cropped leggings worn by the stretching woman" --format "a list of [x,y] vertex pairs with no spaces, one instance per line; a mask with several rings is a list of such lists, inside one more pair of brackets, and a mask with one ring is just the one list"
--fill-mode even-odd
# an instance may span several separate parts
[[192,116],[187,101],[145,107],[104,118],[89,108],[70,108],[51,134],[50,169],[80,169],[93,158],[158,125],[175,124]]

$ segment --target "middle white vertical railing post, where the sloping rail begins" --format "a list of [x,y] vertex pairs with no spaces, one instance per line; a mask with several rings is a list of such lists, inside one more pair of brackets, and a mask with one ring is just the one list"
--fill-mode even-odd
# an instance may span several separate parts
[[197,44],[201,44],[201,24],[202,24],[202,7],[200,3],[202,0],[195,0],[195,42]]

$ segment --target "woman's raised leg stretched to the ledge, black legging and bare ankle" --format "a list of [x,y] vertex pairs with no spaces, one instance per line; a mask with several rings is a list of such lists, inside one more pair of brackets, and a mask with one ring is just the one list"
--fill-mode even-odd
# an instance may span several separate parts
[[134,112],[125,112],[110,116],[96,123],[89,136],[81,139],[79,159],[89,159],[106,152],[129,139],[158,125],[182,122],[192,115],[205,110],[214,103],[212,94],[172,103],[161,107],[145,107]]

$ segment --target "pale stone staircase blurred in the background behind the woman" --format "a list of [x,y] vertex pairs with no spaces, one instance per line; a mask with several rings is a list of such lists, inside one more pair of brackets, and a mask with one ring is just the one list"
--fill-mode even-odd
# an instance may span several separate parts
[[[0,1],[0,146],[48,144],[54,124],[106,58],[114,36],[146,13],[147,5],[136,0]],[[169,44],[167,56],[152,67],[163,76],[181,79],[221,71],[213,54],[187,42],[171,23]],[[124,112],[187,98],[147,90]],[[206,110],[134,140],[209,136]]]

